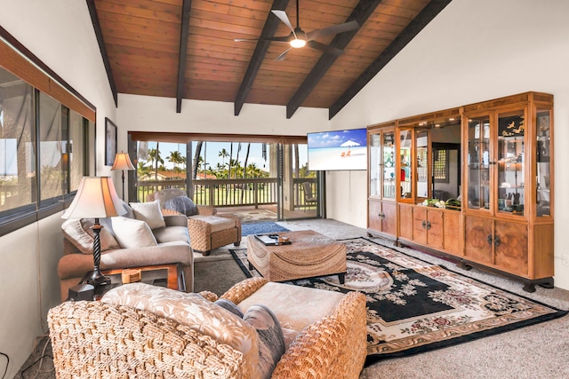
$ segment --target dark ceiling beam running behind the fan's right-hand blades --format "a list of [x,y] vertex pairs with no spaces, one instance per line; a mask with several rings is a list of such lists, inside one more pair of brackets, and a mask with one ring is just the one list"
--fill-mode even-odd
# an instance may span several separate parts
[[[346,22],[357,20],[357,23],[360,25],[364,25],[365,21],[372,15],[375,8],[381,3],[381,0],[360,0],[357,3],[356,8],[354,11],[351,12]],[[357,29],[352,30],[350,32],[341,33],[339,35],[334,36],[332,43],[330,46],[338,48],[340,50],[344,50],[348,43],[356,36]],[[338,57],[324,53],[318,59],[317,64],[312,68],[309,75],[307,75],[304,82],[302,82],[299,89],[294,93],[293,98],[290,99],[288,104],[286,105],[286,118],[293,117],[294,112],[301,107],[301,104],[309,97],[310,92],[314,90],[317,86],[317,83],[320,82],[320,79],[324,77],[328,69],[332,67],[334,61]]]

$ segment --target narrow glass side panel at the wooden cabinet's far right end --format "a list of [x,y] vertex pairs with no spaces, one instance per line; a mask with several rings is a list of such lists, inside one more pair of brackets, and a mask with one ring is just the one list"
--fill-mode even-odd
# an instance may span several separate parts
[[537,181],[535,184],[535,190],[537,191],[537,204],[536,204],[536,215],[537,217],[548,217],[551,216],[551,209],[549,206],[549,175],[551,173],[551,159],[549,154],[550,148],[550,134],[549,134],[549,119],[550,119],[549,109],[538,109],[537,110],[537,120],[536,132],[537,132]]

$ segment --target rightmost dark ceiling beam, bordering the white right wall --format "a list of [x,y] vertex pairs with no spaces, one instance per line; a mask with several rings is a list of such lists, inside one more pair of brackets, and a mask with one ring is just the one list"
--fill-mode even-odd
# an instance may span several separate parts
[[445,6],[450,4],[452,0],[432,0],[425,8],[417,15],[417,17],[409,23],[403,32],[393,40],[389,46],[381,52],[381,54],[373,60],[372,64],[359,75],[359,77],[352,83],[348,90],[341,94],[333,105],[328,109],[328,119],[332,120],[333,116],[341,111],[353,99],[365,84],[373,79],[385,67],[391,59],[393,59],[399,51],[401,51],[407,43],[410,43],[415,36],[425,28],[431,20],[437,17],[437,14],[445,9]]

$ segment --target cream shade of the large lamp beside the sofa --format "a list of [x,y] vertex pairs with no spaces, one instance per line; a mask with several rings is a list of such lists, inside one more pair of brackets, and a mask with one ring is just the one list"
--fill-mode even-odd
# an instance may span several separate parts
[[75,199],[61,218],[104,218],[125,213],[111,178],[84,177]]

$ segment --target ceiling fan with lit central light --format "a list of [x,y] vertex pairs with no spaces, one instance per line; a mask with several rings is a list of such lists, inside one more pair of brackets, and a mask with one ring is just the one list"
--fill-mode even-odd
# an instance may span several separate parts
[[283,21],[284,25],[286,25],[289,29],[291,29],[291,34],[288,36],[275,36],[275,37],[268,37],[268,38],[257,38],[257,39],[244,39],[244,38],[236,38],[236,42],[242,41],[270,41],[270,42],[278,42],[278,43],[288,43],[290,47],[286,49],[283,53],[281,53],[275,60],[283,60],[284,56],[288,51],[291,49],[300,49],[306,45],[311,47],[312,49],[316,49],[319,51],[325,51],[335,56],[340,56],[344,53],[343,50],[338,49],[333,46],[329,46],[325,43],[319,43],[315,41],[315,39],[322,37],[322,36],[332,36],[337,35],[340,33],[349,32],[351,30],[356,30],[359,28],[359,24],[356,20],[344,22],[343,24],[333,25],[332,27],[321,28],[317,30],[313,30],[309,33],[306,33],[304,30],[301,29],[300,26],[300,19],[299,19],[299,0],[296,0],[296,28],[293,28],[291,21],[288,19],[286,12],[281,10],[271,10],[278,17],[279,20]]

